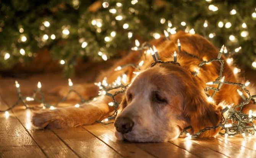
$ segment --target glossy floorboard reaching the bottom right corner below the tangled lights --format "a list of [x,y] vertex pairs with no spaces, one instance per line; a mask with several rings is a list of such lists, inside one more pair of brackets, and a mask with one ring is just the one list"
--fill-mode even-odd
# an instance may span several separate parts
[[255,151],[250,149],[246,150],[246,148],[241,145],[232,142],[222,142],[215,138],[200,138],[192,141],[232,158],[241,156],[254,158],[256,155]]

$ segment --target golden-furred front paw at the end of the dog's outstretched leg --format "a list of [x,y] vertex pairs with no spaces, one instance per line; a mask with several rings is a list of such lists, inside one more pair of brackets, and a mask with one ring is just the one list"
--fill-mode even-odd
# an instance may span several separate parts
[[68,121],[58,111],[41,110],[34,112],[31,122],[38,128],[59,129],[68,127]]

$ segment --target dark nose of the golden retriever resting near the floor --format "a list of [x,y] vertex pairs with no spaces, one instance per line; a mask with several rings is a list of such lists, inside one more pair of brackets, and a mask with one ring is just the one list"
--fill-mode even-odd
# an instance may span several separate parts
[[133,129],[134,122],[129,117],[119,117],[114,125],[118,132],[125,134]]

